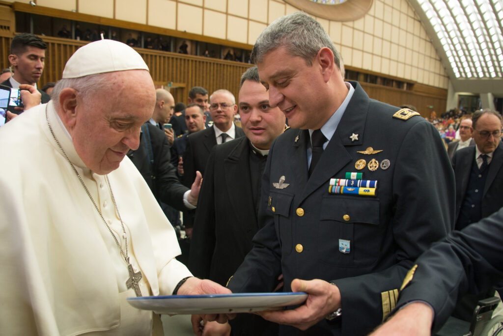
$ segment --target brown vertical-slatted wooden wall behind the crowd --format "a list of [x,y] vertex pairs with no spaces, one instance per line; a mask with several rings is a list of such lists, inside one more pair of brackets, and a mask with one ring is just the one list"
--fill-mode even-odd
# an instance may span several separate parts
[[[63,67],[73,52],[86,42],[42,37],[47,43],[44,73],[38,83],[42,87],[48,81],[57,81]],[[9,66],[9,46],[11,38],[0,36],[0,65]],[[187,103],[190,88],[201,86],[211,93],[218,89],[227,89],[237,100],[241,74],[250,66],[247,63],[226,61],[215,58],[184,55],[165,51],[135,48],[147,63],[156,85],[167,86],[173,83],[171,92],[175,102]],[[428,117],[433,106],[437,111],[445,112],[447,90],[428,87],[415,83],[413,90],[400,90],[362,82],[370,98],[395,106],[414,105],[418,112]]]

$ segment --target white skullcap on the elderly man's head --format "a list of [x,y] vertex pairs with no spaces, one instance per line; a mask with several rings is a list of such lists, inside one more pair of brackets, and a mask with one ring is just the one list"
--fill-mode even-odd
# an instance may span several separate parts
[[71,55],[62,78],[136,69],[148,71],[148,66],[133,48],[119,41],[99,40],[81,46]]

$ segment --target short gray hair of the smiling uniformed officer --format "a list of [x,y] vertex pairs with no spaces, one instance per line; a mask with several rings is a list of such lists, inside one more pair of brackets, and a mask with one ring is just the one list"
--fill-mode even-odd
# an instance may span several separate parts
[[251,50],[251,60],[260,63],[265,54],[279,47],[285,47],[291,56],[302,57],[309,66],[319,49],[327,47],[344,77],[344,63],[336,46],[319,22],[303,12],[286,15],[271,23],[257,38]]

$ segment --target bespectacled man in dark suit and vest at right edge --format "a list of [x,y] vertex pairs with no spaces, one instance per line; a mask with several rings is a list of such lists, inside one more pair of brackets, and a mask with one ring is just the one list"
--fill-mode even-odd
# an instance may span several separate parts
[[[503,207],[501,115],[490,109],[476,111],[472,117],[472,128],[475,146],[457,150],[452,158],[456,179],[456,230],[478,222]],[[453,316],[469,321],[477,298],[484,298],[485,295],[461,298]]]

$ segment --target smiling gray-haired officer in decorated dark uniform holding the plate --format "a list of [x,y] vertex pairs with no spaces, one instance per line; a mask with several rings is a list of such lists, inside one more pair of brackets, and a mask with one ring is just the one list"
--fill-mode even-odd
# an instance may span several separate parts
[[283,324],[365,334],[389,314],[413,261],[449,232],[454,176],[445,147],[417,112],[345,82],[330,37],[302,12],[269,25],[252,55],[270,106],[300,130],[271,146],[263,228],[227,287],[270,292],[283,274],[285,292],[309,297],[293,310],[260,313],[282,324],[280,334],[303,333]]

